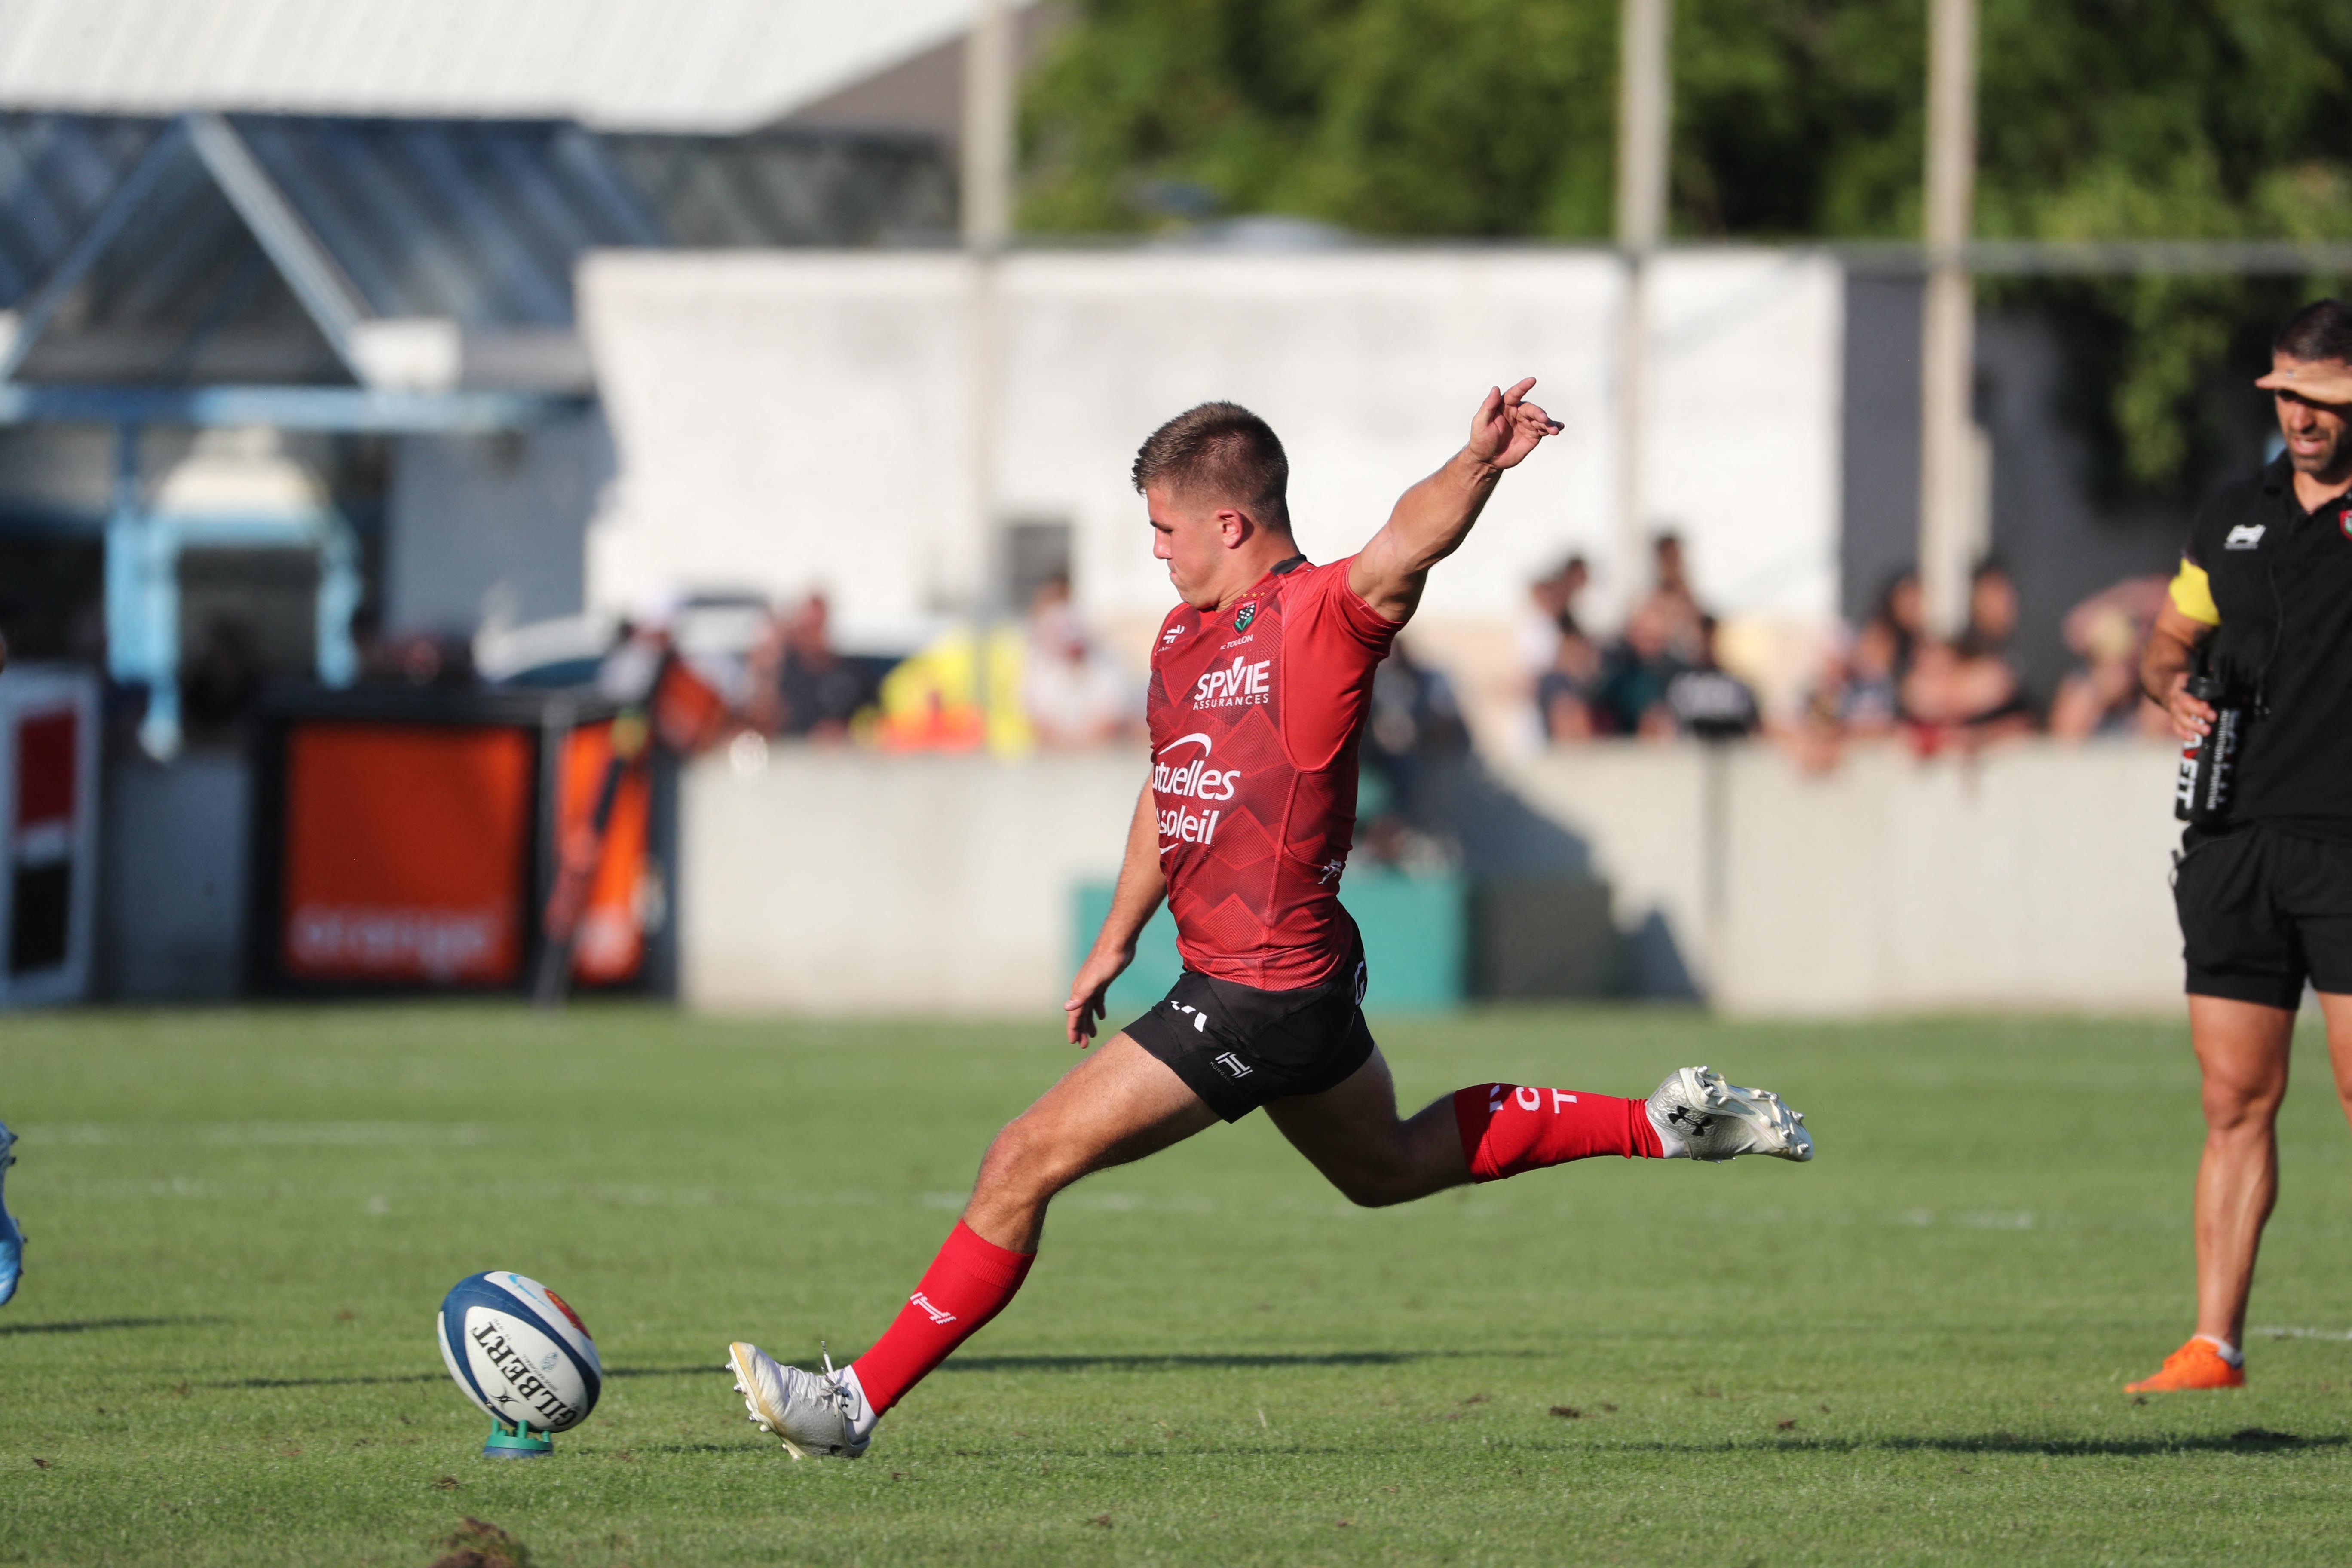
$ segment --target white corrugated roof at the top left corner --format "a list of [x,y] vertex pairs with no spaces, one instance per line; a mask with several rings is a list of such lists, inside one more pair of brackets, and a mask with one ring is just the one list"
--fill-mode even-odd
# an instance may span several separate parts
[[976,0],[0,0],[0,103],[743,129],[971,26]]

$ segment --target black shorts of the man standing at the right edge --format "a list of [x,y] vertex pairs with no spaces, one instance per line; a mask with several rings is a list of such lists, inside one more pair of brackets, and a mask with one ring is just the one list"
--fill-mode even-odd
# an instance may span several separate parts
[[2293,1009],[2352,994],[2352,844],[2251,823],[2190,830],[2173,872],[2192,997]]

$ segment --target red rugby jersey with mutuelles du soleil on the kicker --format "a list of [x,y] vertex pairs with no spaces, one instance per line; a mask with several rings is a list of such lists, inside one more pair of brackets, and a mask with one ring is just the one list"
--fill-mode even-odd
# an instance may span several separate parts
[[1348,562],[1303,557],[1230,609],[1178,604],[1160,623],[1152,806],[1185,966],[1298,990],[1345,957],[1357,738],[1395,637]]

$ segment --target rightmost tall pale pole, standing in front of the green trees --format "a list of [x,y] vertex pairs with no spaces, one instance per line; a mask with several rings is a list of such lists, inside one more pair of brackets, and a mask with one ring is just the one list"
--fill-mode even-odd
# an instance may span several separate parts
[[1969,571],[1990,543],[1976,428],[1976,0],[1933,0],[1926,89],[1926,306],[1919,327],[1919,588],[1929,630],[1969,621]]

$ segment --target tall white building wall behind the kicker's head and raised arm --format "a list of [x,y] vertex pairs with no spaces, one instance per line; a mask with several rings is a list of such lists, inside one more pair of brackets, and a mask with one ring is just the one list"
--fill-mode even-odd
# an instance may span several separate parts
[[[590,597],[821,585],[854,635],[981,597],[976,277],[960,254],[593,256],[581,317],[621,482]],[[1486,386],[1534,374],[1566,433],[1503,484],[1425,604],[1515,616],[1569,548],[1611,564],[1618,299],[1592,252],[1011,256],[997,517],[1068,520],[1082,604],[1155,621],[1171,595],[1127,473],[1162,418],[1232,397],[1272,421],[1301,543],[1334,557],[1461,444]],[[1835,609],[1842,310],[1825,259],[1658,263],[1646,494],[1726,616]]]

